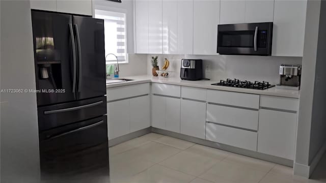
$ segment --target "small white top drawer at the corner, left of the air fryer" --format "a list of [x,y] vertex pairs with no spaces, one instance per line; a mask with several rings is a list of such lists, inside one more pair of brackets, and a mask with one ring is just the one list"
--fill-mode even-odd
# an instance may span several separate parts
[[153,83],[152,84],[152,93],[172,96],[172,97],[180,97],[180,89],[181,87],[178,85],[172,84],[161,84],[161,83]]

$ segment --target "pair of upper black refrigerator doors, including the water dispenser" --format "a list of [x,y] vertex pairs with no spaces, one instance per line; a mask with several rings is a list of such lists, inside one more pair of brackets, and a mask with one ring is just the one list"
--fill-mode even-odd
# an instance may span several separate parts
[[38,106],[104,96],[104,22],[32,11]]

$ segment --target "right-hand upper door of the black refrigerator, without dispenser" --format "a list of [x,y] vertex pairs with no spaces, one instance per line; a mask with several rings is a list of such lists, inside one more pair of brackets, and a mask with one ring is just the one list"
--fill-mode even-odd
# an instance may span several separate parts
[[72,22],[78,52],[77,99],[105,95],[104,22],[82,16],[72,16]]

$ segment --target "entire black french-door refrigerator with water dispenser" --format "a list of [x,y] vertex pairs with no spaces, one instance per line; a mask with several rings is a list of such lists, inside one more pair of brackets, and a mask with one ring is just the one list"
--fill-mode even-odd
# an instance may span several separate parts
[[32,10],[41,179],[109,175],[104,22]]

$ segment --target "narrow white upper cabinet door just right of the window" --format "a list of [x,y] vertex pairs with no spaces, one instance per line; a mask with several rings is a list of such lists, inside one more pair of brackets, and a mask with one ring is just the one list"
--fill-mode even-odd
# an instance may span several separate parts
[[135,0],[136,53],[149,53],[148,1]]

